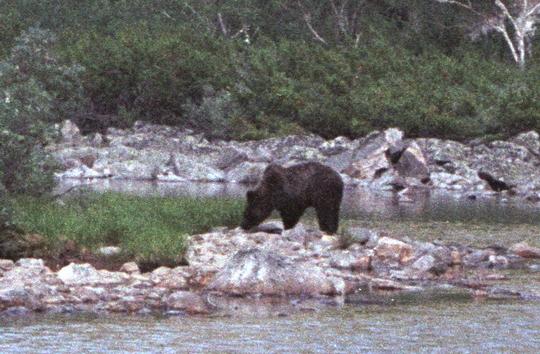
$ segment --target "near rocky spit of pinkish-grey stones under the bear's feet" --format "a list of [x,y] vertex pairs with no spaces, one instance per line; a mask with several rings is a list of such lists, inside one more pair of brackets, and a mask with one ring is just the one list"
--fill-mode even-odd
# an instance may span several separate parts
[[[540,249],[518,243],[483,249],[397,239],[351,227],[329,236],[279,222],[246,233],[217,228],[193,235],[187,265],[141,273],[71,263],[52,271],[41,259],[0,260],[0,314],[252,313],[264,304],[290,313],[339,305],[351,296],[462,289],[471,298],[540,300],[504,286],[502,269],[538,271]],[[247,308],[247,309],[246,309]],[[243,310],[242,310],[243,309]],[[278,311],[278,312],[279,312]]]

